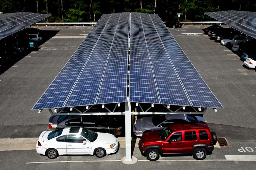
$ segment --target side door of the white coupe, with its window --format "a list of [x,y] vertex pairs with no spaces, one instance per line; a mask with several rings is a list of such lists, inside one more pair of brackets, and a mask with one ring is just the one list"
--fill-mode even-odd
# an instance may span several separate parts
[[[84,142],[85,141],[85,142]],[[91,143],[81,135],[67,135],[67,154],[90,154]]]

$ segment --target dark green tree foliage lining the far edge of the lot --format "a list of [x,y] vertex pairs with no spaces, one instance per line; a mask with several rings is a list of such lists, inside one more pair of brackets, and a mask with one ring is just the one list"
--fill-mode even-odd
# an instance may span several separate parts
[[[9,12],[37,12],[46,13],[46,0],[0,0],[0,11]],[[49,22],[88,22],[97,21],[102,14],[115,12],[154,13],[155,0],[48,0],[48,13],[52,14]],[[91,5],[91,6],[90,6]],[[255,0],[157,0],[156,14],[162,20],[178,19],[177,12],[181,12],[180,20],[206,21],[211,18],[204,12],[243,10],[256,11]],[[91,16],[90,16],[91,15]],[[91,18],[90,18],[91,17]]]

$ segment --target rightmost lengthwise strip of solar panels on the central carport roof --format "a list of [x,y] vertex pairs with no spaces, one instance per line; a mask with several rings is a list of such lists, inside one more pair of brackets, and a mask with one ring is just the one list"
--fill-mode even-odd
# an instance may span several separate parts
[[218,99],[214,96],[162,20],[158,15],[149,14],[149,16],[152,19],[152,24],[154,24],[158,35],[161,37],[175,72],[192,106],[222,108]]

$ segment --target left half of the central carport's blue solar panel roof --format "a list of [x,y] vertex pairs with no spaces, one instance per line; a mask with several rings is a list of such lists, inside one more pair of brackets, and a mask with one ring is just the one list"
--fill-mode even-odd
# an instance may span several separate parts
[[127,29],[129,12],[102,15],[33,109],[125,102]]

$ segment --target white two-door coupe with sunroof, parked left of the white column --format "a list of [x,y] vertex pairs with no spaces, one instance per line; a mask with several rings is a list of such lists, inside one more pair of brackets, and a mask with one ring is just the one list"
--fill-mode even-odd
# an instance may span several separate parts
[[95,155],[101,158],[117,150],[118,140],[114,135],[93,132],[84,127],[43,131],[36,143],[37,153],[50,159],[58,155]]

